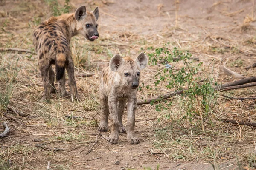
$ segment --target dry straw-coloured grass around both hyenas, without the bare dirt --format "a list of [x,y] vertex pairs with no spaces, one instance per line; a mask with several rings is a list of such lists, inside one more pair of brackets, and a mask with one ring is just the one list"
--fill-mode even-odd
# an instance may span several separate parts
[[[33,28],[39,20],[49,17],[47,12],[41,14],[42,10],[38,9],[37,3],[41,4],[37,1],[34,3],[24,1],[20,8],[15,8],[12,11],[14,16],[25,14],[24,20],[27,20],[28,11],[34,13],[33,20],[27,23],[22,22],[20,18],[8,16],[4,20],[1,19],[1,48],[24,48],[34,51]],[[219,4],[222,3],[214,4],[214,6]],[[92,7],[96,5],[99,4],[90,4]],[[44,9],[47,11],[47,6]],[[238,12],[234,14],[238,14]],[[182,28],[179,25],[177,17],[179,16],[176,14],[175,24],[164,28],[161,35],[139,36],[133,34],[132,31],[109,33],[105,31],[105,34],[93,43],[84,40],[81,36],[74,37],[70,47],[73,51],[81,102],[62,99],[57,94],[52,94],[51,100],[48,102],[40,102],[43,86],[38,71],[37,57],[15,51],[0,52],[0,116],[11,127],[10,136],[0,139],[0,167],[2,166],[3,170],[7,170],[9,165],[11,165],[11,169],[41,169],[42,167],[45,169],[47,161],[51,161],[51,167],[55,169],[101,169],[99,166],[87,164],[93,158],[85,157],[87,155],[82,154],[90,149],[97,135],[101,69],[116,53],[135,57],[139,54],[141,47],[144,49],[150,46],[159,47],[166,43],[166,39],[163,38],[166,37],[171,42],[170,48],[177,46],[181,51],[189,51],[192,53],[192,57],[200,58],[204,65],[208,65],[212,59],[215,59],[213,77],[218,82],[224,83],[233,80],[232,77],[219,74],[218,67],[222,65],[222,62],[227,62],[228,67],[239,71],[246,77],[255,76],[255,69],[249,71],[243,69],[255,59],[255,37],[250,36],[246,40],[231,39],[213,34],[204,27],[197,28],[200,33],[191,33],[187,28]],[[15,28],[12,28],[12,24],[17,21],[21,24],[16,24]],[[249,27],[242,26],[238,28],[239,31],[240,29],[248,31]],[[20,30],[20,32],[17,33],[13,30]],[[175,66],[181,67],[182,64]],[[147,85],[154,85],[153,81],[148,80],[161,67],[162,65],[148,66],[142,73],[141,81],[147,82]],[[212,66],[209,69],[212,69]],[[203,70],[200,72],[202,73]],[[95,75],[93,77],[79,76],[85,73],[94,73]],[[66,85],[66,87],[68,86]],[[162,90],[143,89],[138,94],[138,99],[148,99],[164,94],[166,91],[164,88]],[[234,97],[256,96],[255,88],[221,93]],[[170,100],[173,103],[172,107],[169,107],[168,111],[160,113],[154,110],[154,105],[137,108],[136,125],[140,133],[138,135],[141,142],[151,148],[149,152],[148,150],[141,151],[141,155],[147,156],[148,159],[164,158],[164,160],[168,159],[174,162],[207,162],[214,164],[216,169],[223,168],[219,167],[219,164],[227,161],[234,164],[234,168],[241,169],[244,166],[253,169],[256,167],[255,127],[219,121],[219,118],[232,118],[256,122],[255,101],[241,102],[219,97],[217,107],[207,118],[206,129],[202,132],[198,126],[199,119],[195,118],[192,122],[184,119],[186,115],[184,106],[180,104],[180,98],[174,97]],[[3,116],[3,112],[7,110],[8,101],[9,105],[28,114],[26,118],[21,118],[24,126],[17,125],[13,120]],[[81,119],[68,119],[65,117],[66,115],[81,116]],[[125,136],[120,135],[122,146],[105,144],[106,136],[108,133],[100,136],[99,143],[95,146],[95,152],[104,150],[111,153],[122,152],[127,154],[126,156],[132,155],[127,153],[133,148],[125,145]],[[35,144],[43,144],[49,150],[36,147]],[[63,150],[56,151],[56,148]],[[108,154],[105,154],[105,157],[108,157]],[[109,162],[107,161],[106,167],[102,169],[113,166],[113,162]],[[157,167],[155,162],[153,164],[155,164],[154,167]],[[135,169],[129,166],[128,168]],[[136,168],[139,169],[139,167]]]

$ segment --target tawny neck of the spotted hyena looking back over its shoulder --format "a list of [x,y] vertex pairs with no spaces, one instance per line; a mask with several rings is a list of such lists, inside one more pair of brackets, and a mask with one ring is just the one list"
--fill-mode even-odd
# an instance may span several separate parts
[[63,23],[65,26],[65,30],[63,34],[67,38],[67,40],[70,42],[71,37],[78,34],[78,31],[76,30],[76,19],[74,17],[75,13],[73,14],[63,14],[59,17],[55,17],[57,22]]

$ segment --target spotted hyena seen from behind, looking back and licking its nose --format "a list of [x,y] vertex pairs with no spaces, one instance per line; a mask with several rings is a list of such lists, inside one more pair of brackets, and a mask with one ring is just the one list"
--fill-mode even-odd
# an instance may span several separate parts
[[50,92],[55,92],[54,72],[52,64],[56,65],[56,80],[61,96],[68,96],[65,89],[65,69],[67,70],[70,93],[73,99],[78,99],[74,64],[71,58],[70,39],[82,34],[90,41],[99,37],[97,20],[99,9],[87,12],[85,6],[76,9],[75,13],[51,17],[34,31],[34,45],[38,54],[38,65],[44,84],[43,100],[49,98]]

